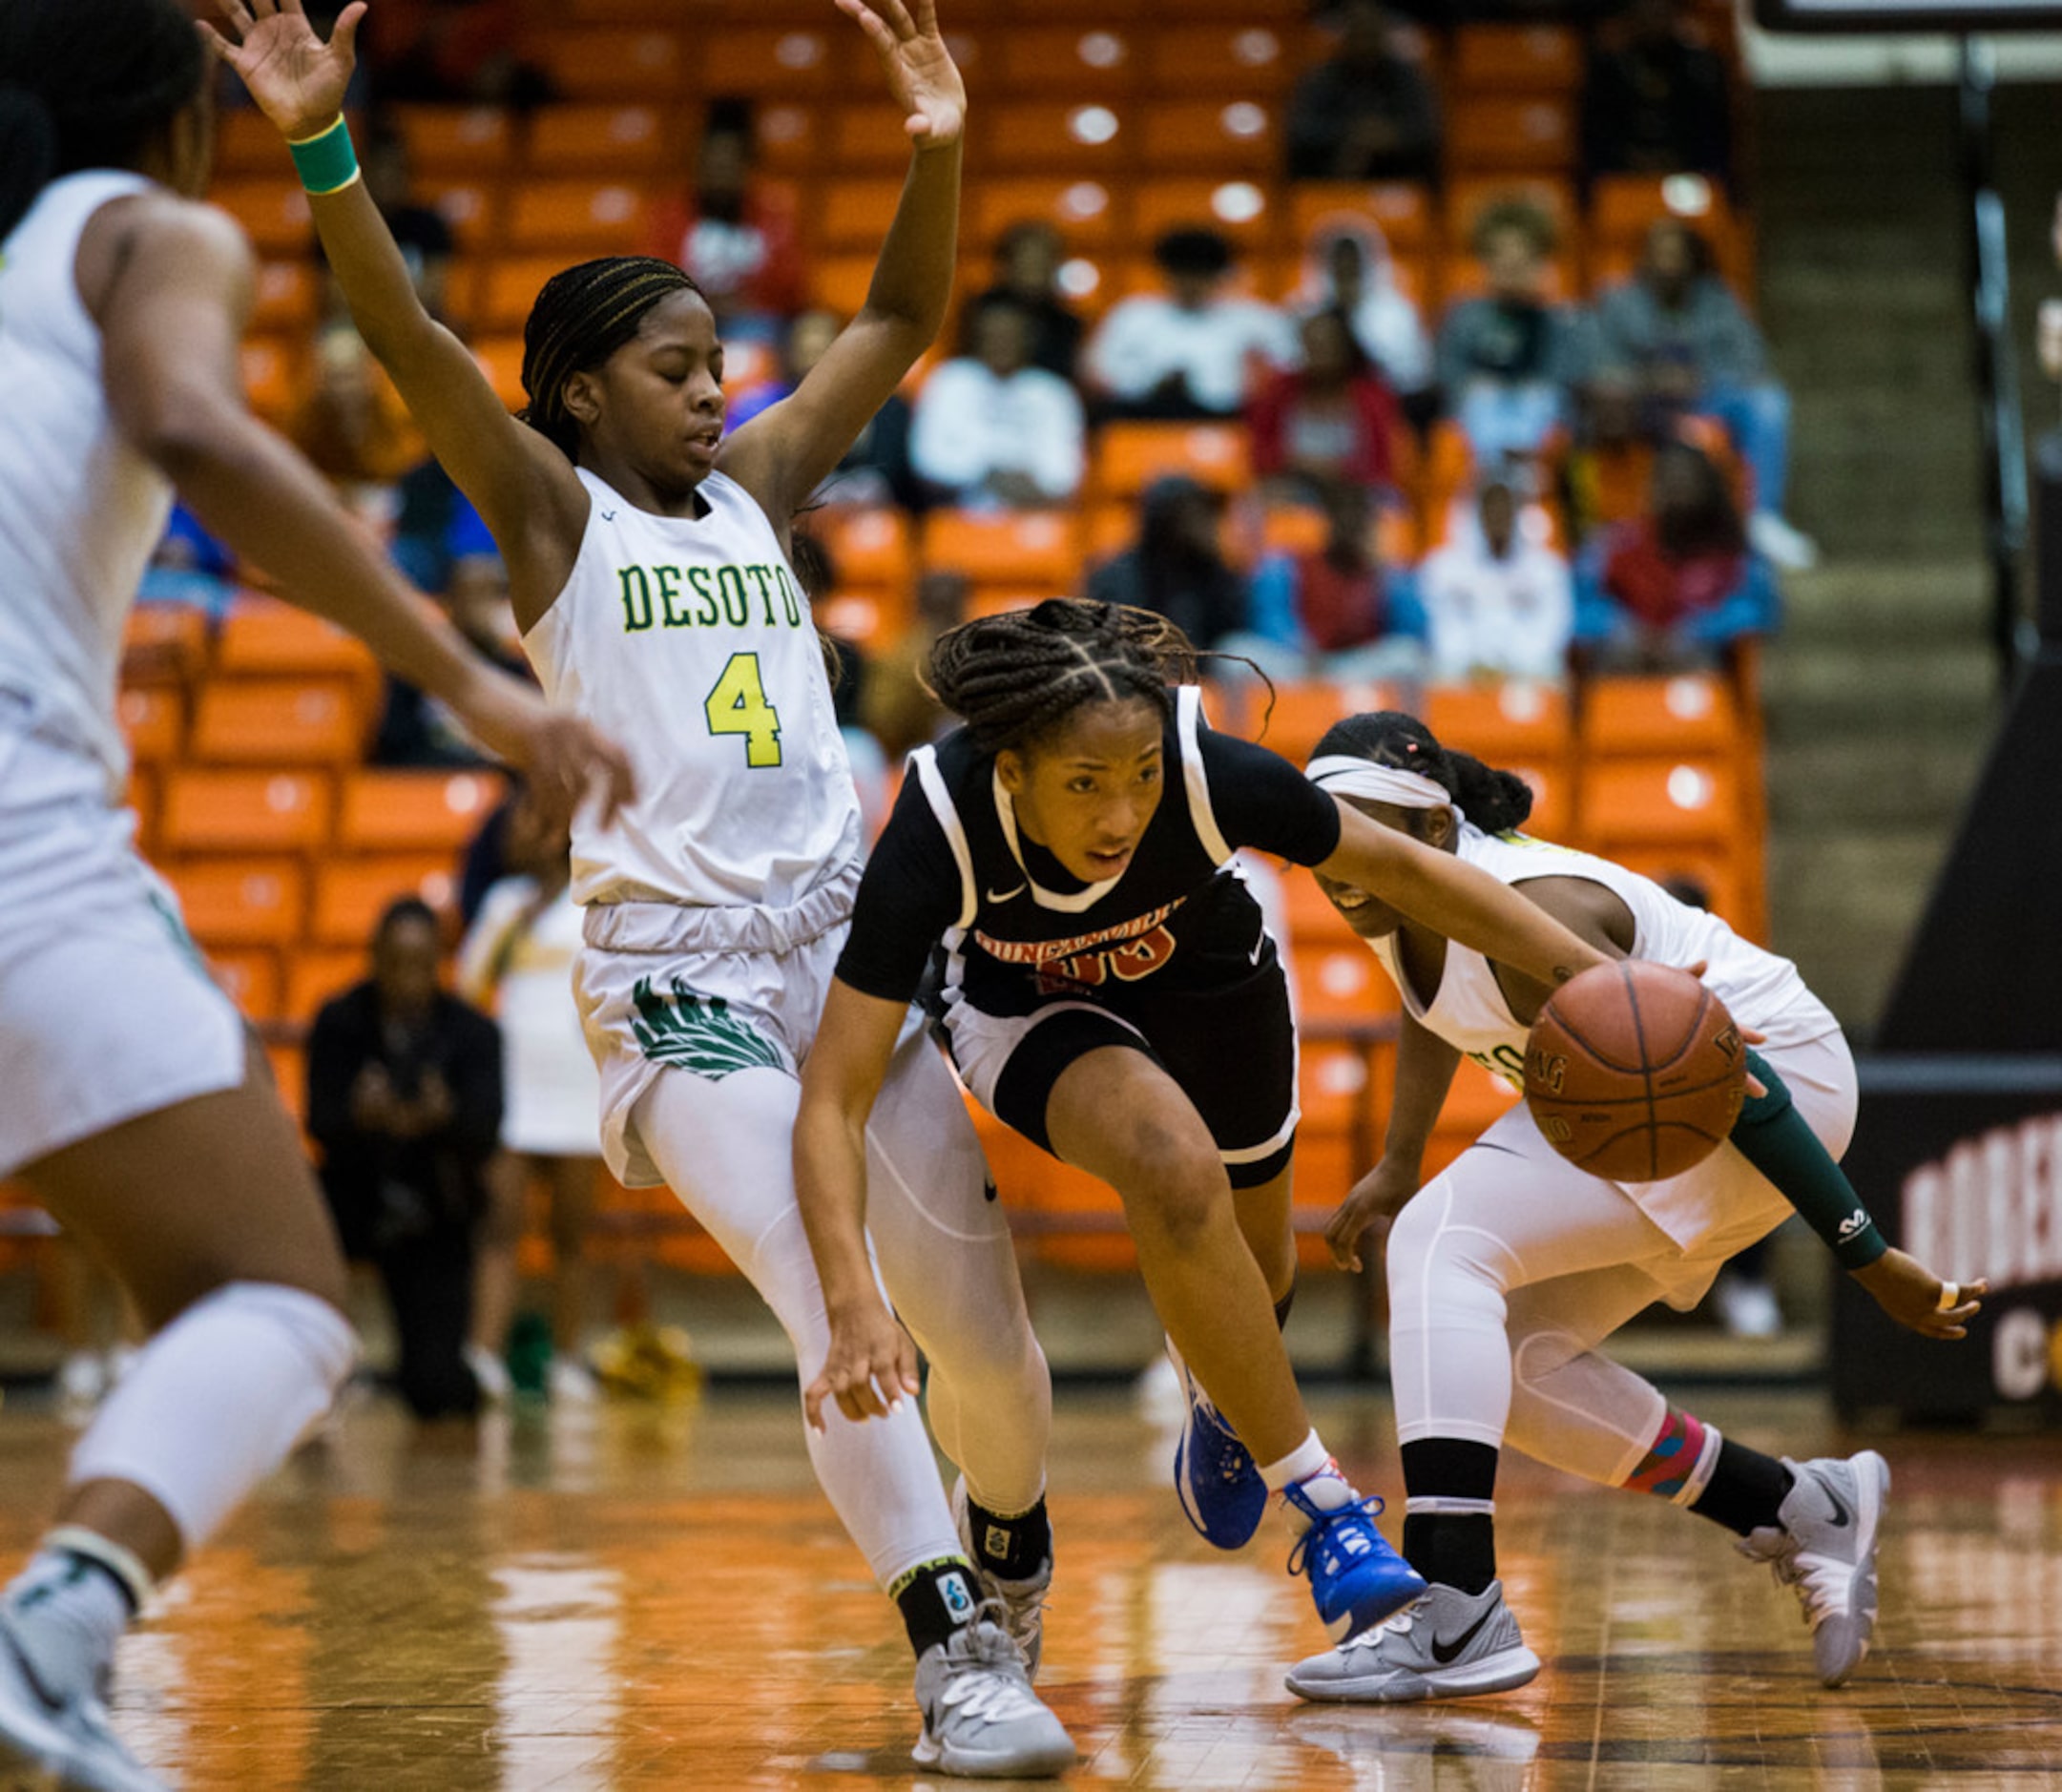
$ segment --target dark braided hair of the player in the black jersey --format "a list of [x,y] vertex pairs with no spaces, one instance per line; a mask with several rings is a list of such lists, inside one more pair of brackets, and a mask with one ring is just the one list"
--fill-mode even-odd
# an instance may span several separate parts
[[1140,697],[1171,718],[1167,687],[1194,681],[1196,650],[1165,617],[1083,598],[946,629],[924,672],[924,689],[986,753],[1033,746],[1087,703]]

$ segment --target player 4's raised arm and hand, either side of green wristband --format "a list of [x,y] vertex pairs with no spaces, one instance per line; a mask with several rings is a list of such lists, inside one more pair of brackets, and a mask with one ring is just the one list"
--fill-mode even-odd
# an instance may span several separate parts
[[[208,43],[280,134],[303,142],[336,128],[357,60],[363,0],[338,14],[328,43],[307,23],[301,0],[221,4],[237,41],[206,27]],[[509,417],[466,344],[423,309],[365,181],[309,194],[309,210],[359,336],[392,375],[431,452],[493,530],[516,615],[528,627],[573,569],[588,522],[586,487],[557,447]]]

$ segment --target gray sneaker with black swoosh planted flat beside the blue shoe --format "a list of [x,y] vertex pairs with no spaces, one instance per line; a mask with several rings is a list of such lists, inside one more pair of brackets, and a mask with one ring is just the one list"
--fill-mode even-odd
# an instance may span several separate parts
[[1289,1691],[1299,1699],[1396,1705],[1507,1693],[1540,1670],[1503,1604],[1503,1582],[1466,1594],[1439,1586],[1371,1631],[1297,1662]]

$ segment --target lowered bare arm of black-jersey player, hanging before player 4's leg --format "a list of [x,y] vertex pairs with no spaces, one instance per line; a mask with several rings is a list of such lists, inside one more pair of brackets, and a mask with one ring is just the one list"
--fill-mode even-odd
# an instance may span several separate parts
[[831,1353],[802,1394],[819,1431],[825,1398],[847,1419],[870,1419],[918,1392],[916,1347],[880,1299],[866,1254],[866,1120],[907,1013],[907,1002],[866,996],[833,977],[802,1066],[794,1188],[831,1320]]

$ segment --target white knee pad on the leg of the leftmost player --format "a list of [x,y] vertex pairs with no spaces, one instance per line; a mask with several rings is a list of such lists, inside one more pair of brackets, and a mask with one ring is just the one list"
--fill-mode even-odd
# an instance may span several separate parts
[[229,1283],[144,1347],[78,1439],[70,1481],[140,1487],[194,1549],[330,1411],[355,1361],[328,1301]]

